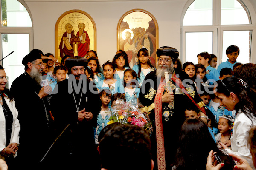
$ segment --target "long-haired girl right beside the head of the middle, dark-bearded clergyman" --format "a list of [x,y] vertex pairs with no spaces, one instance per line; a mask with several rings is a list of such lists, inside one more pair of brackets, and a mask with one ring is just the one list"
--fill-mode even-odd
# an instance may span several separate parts
[[99,81],[104,80],[104,76],[100,71],[100,65],[99,65],[99,60],[96,57],[90,57],[88,59],[88,66],[92,69],[93,71],[93,80],[96,85],[98,85]]

